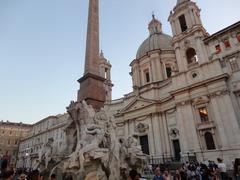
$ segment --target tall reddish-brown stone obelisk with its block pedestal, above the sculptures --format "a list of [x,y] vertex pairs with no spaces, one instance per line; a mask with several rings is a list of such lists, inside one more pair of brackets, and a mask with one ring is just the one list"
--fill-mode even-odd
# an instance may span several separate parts
[[78,80],[78,101],[85,100],[94,109],[103,107],[106,99],[105,79],[100,76],[99,61],[99,1],[89,0],[85,69]]

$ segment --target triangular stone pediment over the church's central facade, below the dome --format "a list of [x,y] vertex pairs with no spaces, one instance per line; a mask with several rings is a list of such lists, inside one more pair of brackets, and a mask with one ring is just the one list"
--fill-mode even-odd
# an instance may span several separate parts
[[138,98],[135,98],[133,101],[131,101],[127,106],[125,106],[120,111],[120,113],[142,109],[142,108],[148,107],[154,103],[155,103],[154,100],[149,100],[149,99],[144,99],[142,97],[138,97]]

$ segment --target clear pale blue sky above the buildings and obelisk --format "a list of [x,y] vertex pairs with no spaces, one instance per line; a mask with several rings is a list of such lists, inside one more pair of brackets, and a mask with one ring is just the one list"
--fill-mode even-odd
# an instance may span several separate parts
[[[239,0],[197,0],[212,34],[240,20]],[[154,11],[167,22],[176,0],[100,0],[100,46],[112,63],[113,98],[132,89],[130,62]],[[0,120],[34,123],[64,113],[83,74],[87,0],[0,1]]]

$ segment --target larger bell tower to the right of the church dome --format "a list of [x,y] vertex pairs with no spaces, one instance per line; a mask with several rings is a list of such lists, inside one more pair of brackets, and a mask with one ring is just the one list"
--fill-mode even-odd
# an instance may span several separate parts
[[203,39],[208,36],[202,25],[200,9],[191,0],[177,0],[168,21],[172,27],[172,44],[179,72],[208,61]]

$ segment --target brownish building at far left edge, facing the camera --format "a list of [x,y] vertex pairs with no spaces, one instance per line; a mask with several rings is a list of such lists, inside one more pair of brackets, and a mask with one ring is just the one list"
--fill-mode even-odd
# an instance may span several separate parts
[[29,124],[0,121],[0,157],[15,164],[19,142],[29,134],[31,127]]

